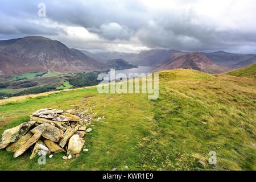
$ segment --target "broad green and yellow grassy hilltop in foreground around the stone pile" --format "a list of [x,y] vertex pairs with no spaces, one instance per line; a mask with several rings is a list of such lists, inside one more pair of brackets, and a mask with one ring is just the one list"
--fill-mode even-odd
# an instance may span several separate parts
[[[160,72],[159,99],[98,94],[97,88],[0,102],[0,134],[43,107],[79,109],[94,117],[79,158],[54,154],[46,165],[29,154],[0,151],[1,170],[256,170],[256,81],[177,69]],[[210,151],[217,165],[208,164]]]

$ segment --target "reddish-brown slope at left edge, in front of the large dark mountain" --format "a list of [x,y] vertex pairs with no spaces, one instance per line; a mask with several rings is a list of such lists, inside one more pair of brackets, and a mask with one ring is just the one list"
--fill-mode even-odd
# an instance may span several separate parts
[[46,72],[46,69],[28,60],[0,55],[0,76],[19,75],[30,72]]

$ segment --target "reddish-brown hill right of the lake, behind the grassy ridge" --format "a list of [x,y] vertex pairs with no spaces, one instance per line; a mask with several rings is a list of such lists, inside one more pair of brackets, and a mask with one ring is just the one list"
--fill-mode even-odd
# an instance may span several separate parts
[[212,63],[205,55],[199,52],[192,53],[173,53],[160,67],[155,71],[167,69],[195,69],[205,73],[221,73],[224,70]]

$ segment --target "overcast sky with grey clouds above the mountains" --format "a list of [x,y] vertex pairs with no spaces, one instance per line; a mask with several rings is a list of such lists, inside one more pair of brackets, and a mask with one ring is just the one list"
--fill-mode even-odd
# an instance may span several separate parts
[[[0,39],[40,35],[89,51],[256,53],[255,0],[0,0]],[[46,17],[38,16],[38,4]]]

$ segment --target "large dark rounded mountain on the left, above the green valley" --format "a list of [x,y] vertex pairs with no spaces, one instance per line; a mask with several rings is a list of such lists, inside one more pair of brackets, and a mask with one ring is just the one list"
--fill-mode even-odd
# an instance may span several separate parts
[[[2,41],[0,45],[1,43],[3,44]],[[40,36],[28,36],[13,41],[2,49],[0,55],[25,60],[31,63],[29,67],[36,64],[49,72],[89,72],[108,68],[77,49],[69,49],[59,41]]]

